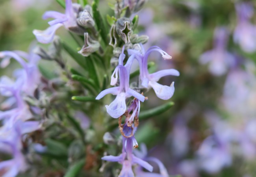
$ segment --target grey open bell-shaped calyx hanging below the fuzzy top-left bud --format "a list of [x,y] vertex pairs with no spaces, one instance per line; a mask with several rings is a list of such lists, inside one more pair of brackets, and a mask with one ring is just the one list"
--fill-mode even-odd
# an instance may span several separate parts
[[88,57],[91,53],[96,52],[100,48],[100,43],[93,40],[88,33],[84,33],[84,45],[78,52],[81,55]]

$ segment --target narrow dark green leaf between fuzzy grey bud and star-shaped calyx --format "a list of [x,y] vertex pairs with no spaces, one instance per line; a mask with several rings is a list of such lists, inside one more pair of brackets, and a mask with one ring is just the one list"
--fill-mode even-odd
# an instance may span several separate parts
[[106,45],[108,45],[108,31],[107,28],[104,25],[104,21],[100,15],[100,12],[98,10],[98,0],[94,0],[92,3],[93,8],[93,17],[95,18],[96,25],[98,27],[98,30],[100,31],[100,35],[105,42]]

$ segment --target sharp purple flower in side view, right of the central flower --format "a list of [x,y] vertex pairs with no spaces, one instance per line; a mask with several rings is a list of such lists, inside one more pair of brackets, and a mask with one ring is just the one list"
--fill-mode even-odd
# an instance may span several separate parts
[[[141,46],[143,48],[143,46]],[[168,55],[166,52],[161,50],[157,46],[150,47],[146,52],[140,53],[137,50],[128,50],[130,57],[135,57],[139,62],[140,67],[140,79],[141,85],[143,87],[149,88],[152,87],[156,93],[156,96],[162,100],[168,100],[173,96],[174,93],[174,82],[171,83],[171,86],[161,85],[157,81],[163,76],[179,76],[180,73],[175,69],[167,69],[167,70],[160,70],[158,72],[149,74],[147,63],[148,63],[148,55],[153,52],[157,51],[161,53],[163,59],[171,59],[171,56]]]

